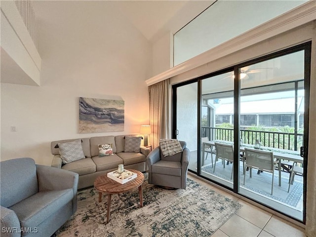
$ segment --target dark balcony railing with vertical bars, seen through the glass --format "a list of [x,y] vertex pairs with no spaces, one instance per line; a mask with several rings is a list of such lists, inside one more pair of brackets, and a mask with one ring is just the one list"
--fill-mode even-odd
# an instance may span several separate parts
[[[209,140],[234,141],[233,128],[202,126],[201,135]],[[254,145],[256,140],[259,140],[262,146],[292,151],[298,151],[303,146],[303,136],[302,133],[240,129],[240,138],[245,144]]]

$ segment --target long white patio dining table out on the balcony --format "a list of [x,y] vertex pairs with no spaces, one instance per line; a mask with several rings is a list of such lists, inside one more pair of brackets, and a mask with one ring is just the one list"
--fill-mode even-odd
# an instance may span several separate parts
[[[227,142],[227,141],[208,141],[208,142],[203,142],[202,143],[202,166],[204,165],[204,150],[205,150],[205,145],[210,146],[212,149],[215,147],[215,142],[218,143],[226,143],[226,144],[233,144],[232,142]],[[253,145],[248,145],[247,148],[254,148]],[[244,153],[245,147],[240,146],[239,151]],[[286,160],[291,160],[294,162],[299,162],[303,163],[303,158],[300,156],[299,151],[289,151],[289,150],[284,150],[284,149],[278,149],[278,148],[271,148],[271,147],[261,147],[260,150],[263,151],[272,151],[273,156],[277,161],[277,169],[278,169],[278,186],[281,186],[281,159],[286,159]],[[290,152],[290,153],[289,153]]]

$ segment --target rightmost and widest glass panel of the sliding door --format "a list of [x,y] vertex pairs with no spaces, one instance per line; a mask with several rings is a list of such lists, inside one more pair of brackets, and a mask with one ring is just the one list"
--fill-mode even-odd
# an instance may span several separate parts
[[[243,147],[252,149],[259,142],[259,151],[268,156],[273,153],[274,159],[272,171],[260,166],[266,156],[261,153],[255,160],[257,167],[251,164],[245,174],[239,172],[239,193],[301,221],[304,162],[299,151],[305,132],[304,61],[304,50],[300,50],[240,68],[246,74],[240,80]],[[244,159],[248,167],[247,154]],[[289,185],[293,168],[300,172],[293,174]]]

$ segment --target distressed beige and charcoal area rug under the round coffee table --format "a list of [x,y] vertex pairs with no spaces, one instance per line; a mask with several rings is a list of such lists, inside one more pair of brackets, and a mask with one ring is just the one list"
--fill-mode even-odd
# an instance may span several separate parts
[[164,190],[143,184],[144,207],[138,189],[112,196],[106,224],[107,198],[98,202],[94,188],[78,192],[78,209],[56,237],[198,236],[209,237],[241,205],[188,179],[186,190]]

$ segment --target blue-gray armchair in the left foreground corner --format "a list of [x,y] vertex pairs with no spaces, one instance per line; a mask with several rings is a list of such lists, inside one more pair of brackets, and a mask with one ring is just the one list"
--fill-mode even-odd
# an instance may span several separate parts
[[0,165],[1,237],[49,237],[76,212],[78,174],[32,158]]

